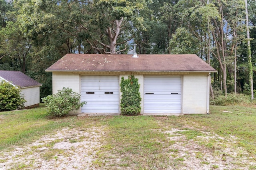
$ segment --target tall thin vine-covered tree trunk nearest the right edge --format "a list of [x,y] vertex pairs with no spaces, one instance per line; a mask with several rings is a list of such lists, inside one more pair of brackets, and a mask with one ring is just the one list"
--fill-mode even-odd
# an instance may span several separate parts
[[247,31],[247,54],[248,54],[248,65],[249,65],[249,82],[251,90],[251,99],[254,99],[253,96],[253,80],[252,80],[252,53],[251,53],[251,44],[250,44],[250,33],[249,33],[249,23],[248,23],[248,10],[247,10],[247,0],[245,0],[245,14],[246,14],[246,31]]

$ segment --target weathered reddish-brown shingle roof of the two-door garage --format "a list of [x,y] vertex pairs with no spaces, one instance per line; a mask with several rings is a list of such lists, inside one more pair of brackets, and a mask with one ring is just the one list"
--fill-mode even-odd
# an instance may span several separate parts
[[66,54],[46,71],[216,72],[197,55]]

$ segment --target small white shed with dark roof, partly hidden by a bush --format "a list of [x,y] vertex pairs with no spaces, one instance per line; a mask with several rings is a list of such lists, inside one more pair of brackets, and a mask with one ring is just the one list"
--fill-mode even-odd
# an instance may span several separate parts
[[20,71],[0,70],[0,79],[18,86],[24,94],[25,108],[37,107],[40,103],[40,84]]

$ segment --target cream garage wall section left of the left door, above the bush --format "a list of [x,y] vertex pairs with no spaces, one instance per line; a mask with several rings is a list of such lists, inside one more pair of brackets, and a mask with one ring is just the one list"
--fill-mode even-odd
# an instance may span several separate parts
[[80,75],[72,72],[52,72],[52,93],[57,93],[63,87],[72,88],[80,94]]

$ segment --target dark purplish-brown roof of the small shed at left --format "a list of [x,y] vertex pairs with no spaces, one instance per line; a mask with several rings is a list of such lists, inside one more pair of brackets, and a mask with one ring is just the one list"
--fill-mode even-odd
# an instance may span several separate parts
[[0,78],[11,82],[15,86],[19,87],[38,87],[42,86],[41,83],[37,82],[33,78],[30,78],[26,74],[20,71],[8,71],[8,70],[0,70]]

